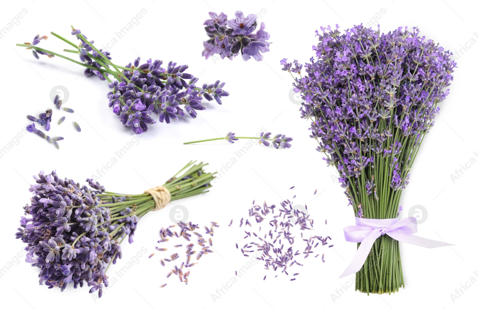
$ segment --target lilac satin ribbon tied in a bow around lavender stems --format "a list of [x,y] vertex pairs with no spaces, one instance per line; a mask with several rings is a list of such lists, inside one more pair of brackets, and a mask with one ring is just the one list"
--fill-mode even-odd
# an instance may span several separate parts
[[427,248],[439,246],[453,246],[441,241],[422,238],[412,235],[417,232],[417,219],[415,217],[407,217],[399,221],[398,218],[388,219],[370,219],[355,217],[355,226],[347,226],[344,228],[345,240],[360,243],[357,253],[345,269],[340,278],[346,277],[358,272],[365,260],[369,256],[374,241],[380,235],[389,235],[393,239],[410,243],[416,246],[424,246]]

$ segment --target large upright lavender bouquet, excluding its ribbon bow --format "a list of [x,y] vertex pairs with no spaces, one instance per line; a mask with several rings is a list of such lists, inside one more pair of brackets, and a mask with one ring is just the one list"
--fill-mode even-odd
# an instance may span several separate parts
[[[297,61],[283,59],[282,70],[299,75],[293,85],[305,100],[301,117],[312,120],[310,137],[337,168],[355,215],[396,218],[417,152],[448,95],[455,61],[417,28],[321,30],[313,46],[317,60],[304,65],[306,75]],[[356,274],[356,289],[391,293],[400,287],[398,241],[382,235]]]

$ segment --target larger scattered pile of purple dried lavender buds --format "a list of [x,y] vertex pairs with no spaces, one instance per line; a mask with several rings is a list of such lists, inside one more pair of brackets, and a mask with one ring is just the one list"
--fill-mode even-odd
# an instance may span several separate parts
[[[300,239],[305,243],[304,248],[298,245],[296,236],[293,235],[293,233],[295,233],[294,230],[297,230],[297,233],[299,230],[315,231],[314,220],[309,218],[310,215],[298,208],[294,208],[293,202],[290,200],[281,202],[280,208],[277,208],[275,204],[268,206],[266,202],[264,202],[262,207],[254,203],[255,200],[252,202],[253,207],[249,209],[249,217],[253,217],[255,221],[246,219],[244,222],[244,218],[241,218],[239,223],[239,227],[242,227],[243,224],[246,228],[251,227],[248,229],[249,231],[244,231],[244,239],[248,239],[248,241],[255,239],[242,247],[239,247],[236,243],[236,248],[240,249],[243,256],[249,257],[252,255],[252,252],[256,252],[256,258],[264,261],[264,269],[273,271],[279,269],[287,276],[289,276],[286,270],[288,267],[290,271],[293,265],[304,266],[301,262],[304,262],[304,259],[311,255],[314,255],[314,257],[320,256],[322,262],[325,263],[325,254],[322,253],[321,255],[316,248],[319,245],[327,247],[334,246],[328,243],[328,240],[332,240],[332,238],[313,234],[307,238],[304,237],[304,233],[301,232]],[[276,211],[275,215],[274,210]],[[277,214],[277,211],[279,214]],[[305,205],[305,211],[307,211],[307,205]],[[268,219],[271,220],[267,221]],[[231,220],[229,226],[232,222]],[[255,222],[254,227],[252,227],[251,222]],[[272,229],[268,228],[269,225],[272,226]],[[261,236],[262,226],[267,227],[263,237]],[[267,229],[269,229],[269,232],[267,232]],[[294,272],[290,280],[294,281],[297,275],[299,275],[299,273]],[[275,277],[277,277],[277,275]],[[265,279],[266,276],[264,276],[263,280]]]

